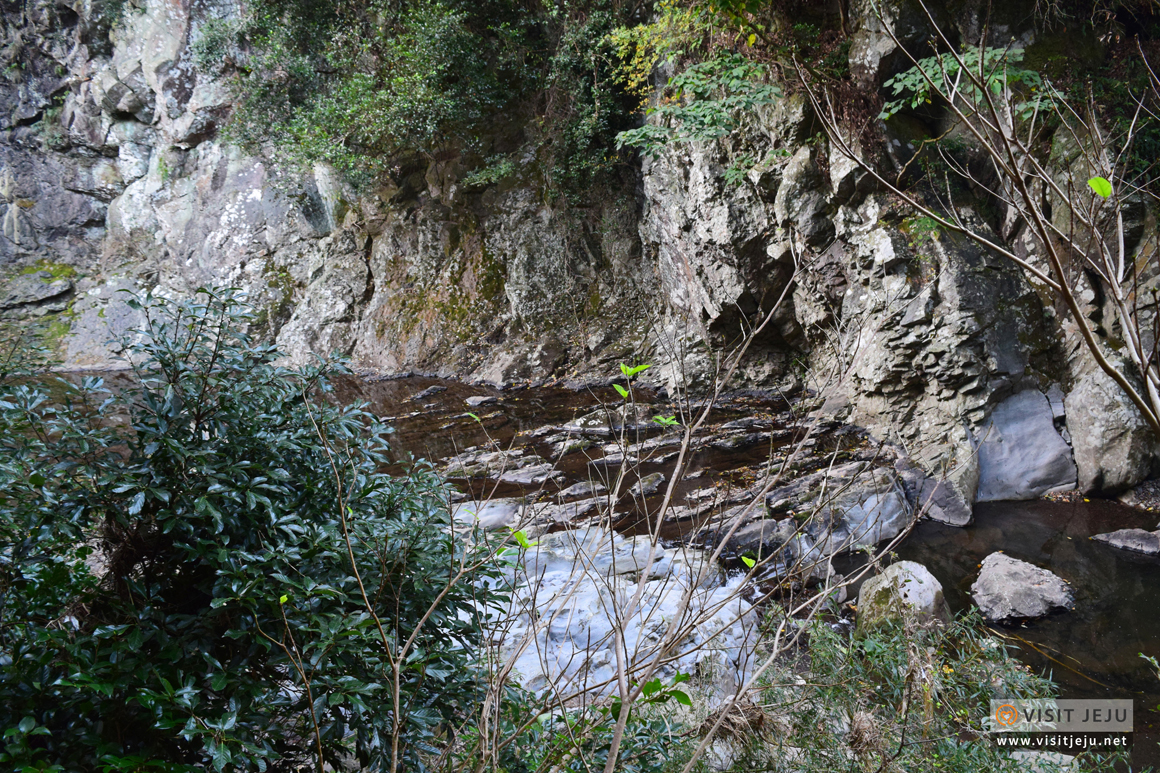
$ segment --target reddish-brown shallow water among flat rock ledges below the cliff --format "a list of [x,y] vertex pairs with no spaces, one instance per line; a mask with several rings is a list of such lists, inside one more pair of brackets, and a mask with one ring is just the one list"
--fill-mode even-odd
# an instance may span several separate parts
[[[432,388],[440,391],[422,397]],[[595,482],[612,489],[617,476],[623,476],[621,491],[626,492],[639,477],[654,472],[670,476],[679,448],[673,445],[651,451],[648,461],[639,464],[602,463],[606,457],[602,447],[612,442],[612,439],[595,438],[593,447],[554,458],[551,441],[559,440],[558,429],[563,425],[601,406],[623,404],[623,398],[612,386],[549,385],[500,391],[423,377],[384,381],[342,378],[335,383],[335,397],[345,403],[364,400],[369,403],[370,410],[391,425],[392,450],[400,468],[409,458],[426,458],[438,463],[473,447],[522,448],[524,453],[551,461],[560,472],[558,479],[544,485],[517,485],[488,478],[451,478],[458,489],[477,499],[530,497],[548,500],[556,492],[579,482]],[[471,397],[493,397],[495,402],[472,407],[466,404]],[[635,399],[648,406],[645,416],[676,416],[682,424],[690,416],[697,414],[699,407],[669,402],[662,392],[648,388],[637,389]],[[681,501],[687,493],[706,485],[744,486],[747,482],[752,483],[756,470],[763,469],[775,449],[792,440],[793,433],[785,429],[789,405],[784,399],[760,392],[731,395],[720,400],[710,411],[698,433],[701,440],[712,441],[728,435],[730,433],[723,434],[722,425],[738,419],[760,420],[770,436],[761,442],[730,449],[699,445],[688,457],[686,475],[674,491],[674,501]],[[664,432],[659,425],[646,422],[643,427],[628,431],[622,440],[636,443],[657,438]],[[669,431],[673,440],[679,440],[679,428]],[[735,429],[732,434],[745,434],[745,431]],[[825,442],[819,443],[819,448],[825,447]],[[661,493],[644,499],[623,497],[617,506],[616,528],[624,533],[647,528],[650,513],[660,508],[662,492],[664,487]],[[691,527],[690,523],[666,525],[662,536],[675,539],[682,529]]]

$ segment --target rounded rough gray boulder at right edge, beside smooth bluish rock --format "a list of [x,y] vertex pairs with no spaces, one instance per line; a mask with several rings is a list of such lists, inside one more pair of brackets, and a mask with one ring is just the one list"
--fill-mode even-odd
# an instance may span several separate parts
[[1140,412],[1102,370],[1075,383],[1064,398],[1075,450],[1079,489],[1114,494],[1148,477],[1158,443]]

